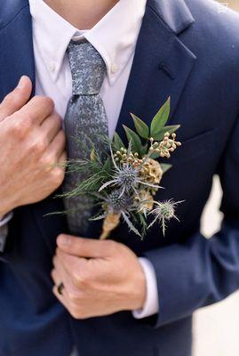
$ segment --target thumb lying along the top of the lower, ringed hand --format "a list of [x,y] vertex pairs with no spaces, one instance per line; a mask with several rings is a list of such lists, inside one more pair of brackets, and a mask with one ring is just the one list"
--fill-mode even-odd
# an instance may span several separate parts
[[100,258],[116,253],[116,242],[112,240],[83,239],[61,234],[57,245],[65,253],[80,257]]

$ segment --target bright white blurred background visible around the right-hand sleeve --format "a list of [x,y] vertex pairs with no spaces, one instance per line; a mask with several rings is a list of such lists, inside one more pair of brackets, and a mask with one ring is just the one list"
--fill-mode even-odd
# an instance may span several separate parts
[[[221,16],[227,7],[239,12],[239,0],[219,1]],[[219,230],[222,219],[220,199],[219,177],[215,176],[211,198],[202,218],[202,231],[208,238]],[[239,356],[239,292],[223,302],[195,312],[194,318],[194,356]]]

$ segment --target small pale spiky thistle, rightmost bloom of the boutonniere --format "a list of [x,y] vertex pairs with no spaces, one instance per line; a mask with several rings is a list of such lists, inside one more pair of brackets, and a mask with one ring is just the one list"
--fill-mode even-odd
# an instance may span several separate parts
[[163,236],[165,236],[165,230],[167,227],[166,223],[169,222],[171,219],[176,219],[179,222],[178,217],[175,215],[175,207],[178,206],[180,203],[182,203],[182,201],[175,202],[172,199],[163,202],[155,201],[156,207],[149,213],[153,214],[155,219],[152,223],[148,225],[148,229],[158,221],[158,223],[160,223],[162,227]]

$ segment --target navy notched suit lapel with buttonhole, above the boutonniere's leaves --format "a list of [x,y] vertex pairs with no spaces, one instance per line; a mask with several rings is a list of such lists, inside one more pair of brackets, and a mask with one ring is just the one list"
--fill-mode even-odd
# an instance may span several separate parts
[[129,113],[148,122],[171,96],[171,117],[194,65],[195,55],[179,40],[194,19],[183,0],[148,0],[131,76],[116,131],[132,127]]

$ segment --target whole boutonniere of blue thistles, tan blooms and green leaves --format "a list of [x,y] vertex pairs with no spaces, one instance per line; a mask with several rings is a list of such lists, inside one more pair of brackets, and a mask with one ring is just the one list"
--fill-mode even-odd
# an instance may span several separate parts
[[[171,154],[181,145],[176,141],[175,132],[179,125],[166,125],[170,114],[170,98],[153,117],[149,126],[139,117],[131,114],[135,130],[123,125],[127,145],[118,134],[112,142],[107,142],[103,158],[92,143],[91,155],[87,159],[68,162],[68,172],[84,170],[88,177],[76,182],[72,191],[64,198],[91,196],[92,206],[98,206],[98,214],[90,220],[102,220],[100,239],[107,239],[121,221],[126,223],[141,239],[147,230],[158,222],[165,234],[167,223],[178,219],[175,208],[180,203],[173,199],[155,199],[160,182],[170,164],[160,163],[160,158],[171,158]],[[151,223],[147,218],[151,216]]]

